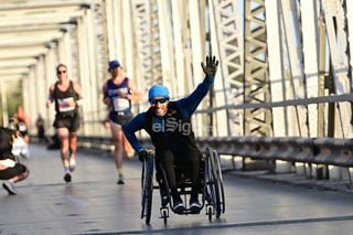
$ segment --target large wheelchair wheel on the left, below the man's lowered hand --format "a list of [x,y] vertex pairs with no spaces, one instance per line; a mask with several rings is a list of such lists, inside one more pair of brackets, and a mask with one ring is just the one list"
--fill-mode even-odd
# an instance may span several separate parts
[[142,188],[142,200],[141,200],[141,218],[146,217],[146,224],[151,221],[152,213],[152,195],[153,195],[153,156],[149,156],[142,164],[141,175],[141,188]]

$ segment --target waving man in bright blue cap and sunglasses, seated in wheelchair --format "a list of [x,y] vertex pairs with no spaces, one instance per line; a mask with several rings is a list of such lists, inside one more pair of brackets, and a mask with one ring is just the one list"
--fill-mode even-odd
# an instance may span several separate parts
[[124,126],[124,132],[138,152],[140,161],[148,157],[147,150],[140,145],[135,132],[145,129],[154,146],[156,158],[165,169],[168,183],[173,200],[173,211],[183,213],[185,204],[176,189],[174,164],[191,167],[190,211],[199,213],[202,205],[199,202],[200,150],[196,146],[191,127],[191,116],[213,85],[218,61],[215,56],[206,56],[206,63],[201,63],[205,78],[189,96],[179,100],[170,100],[169,90],[163,85],[154,85],[149,89],[150,108],[138,114]]

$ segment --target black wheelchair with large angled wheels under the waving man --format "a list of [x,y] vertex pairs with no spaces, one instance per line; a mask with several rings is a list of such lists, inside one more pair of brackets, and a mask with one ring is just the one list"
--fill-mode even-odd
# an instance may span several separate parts
[[[164,224],[167,224],[169,210],[174,212],[171,205],[172,200],[167,174],[161,162],[156,160],[154,152],[152,150],[149,150],[148,152],[149,156],[142,163],[141,218],[145,218],[146,224],[150,223],[153,190],[158,189],[161,197],[160,218],[163,218]],[[221,161],[217,151],[208,147],[206,148],[205,153],[201,156],[200,161],[199,194],[202,195],[201,211],[205,207],[206,215],[211,222],[213,215],[218,218],[221,213],[225,212]],[[184,197],[184,202],[186,202],[186,197],[190,196],[191,193],[190,167],[174,165],[174,168],[178,191],[181,196]],[[153,178],[153,173],[156,178]],[[190,210],[185,210],[182,214],[194,213]]]

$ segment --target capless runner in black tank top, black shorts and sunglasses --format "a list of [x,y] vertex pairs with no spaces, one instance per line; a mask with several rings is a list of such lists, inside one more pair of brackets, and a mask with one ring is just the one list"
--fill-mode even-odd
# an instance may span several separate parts
[[61,158],[64,167],[65,182],[72,181],[72,173],[76,167],[77,131],[79,129],[79,110],[83,104],[81,85],[67,76],[67,67],[60,64],[56,67],[57,82],[49,88],[46,107],[55,104],[55,120],[53,126],[61,142]]

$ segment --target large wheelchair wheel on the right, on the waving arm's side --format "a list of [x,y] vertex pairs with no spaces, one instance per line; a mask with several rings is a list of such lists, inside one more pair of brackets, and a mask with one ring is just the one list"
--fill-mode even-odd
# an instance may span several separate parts
[[221,161],[216,150],[207,148],[207,162],[208,162],[208,185],[212,197],[212,204],[215,210],[216,217],[221,216],[221,213],[225,212],[224,203],[224,188],[221,171]]

